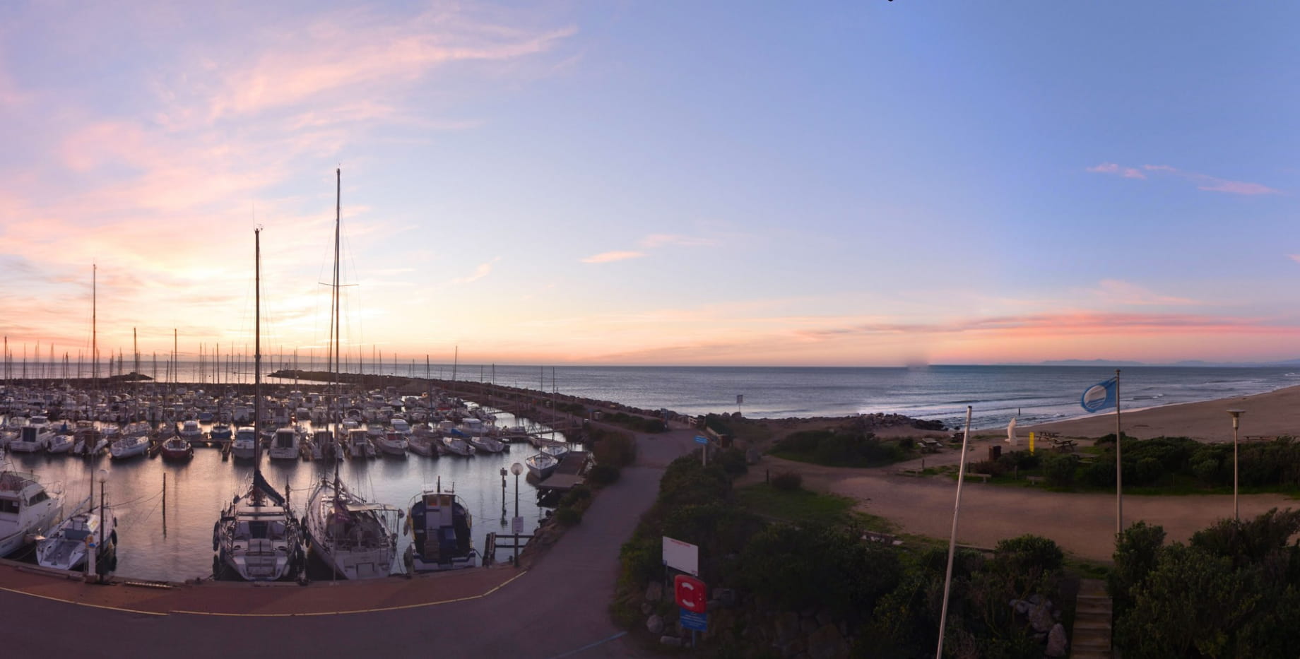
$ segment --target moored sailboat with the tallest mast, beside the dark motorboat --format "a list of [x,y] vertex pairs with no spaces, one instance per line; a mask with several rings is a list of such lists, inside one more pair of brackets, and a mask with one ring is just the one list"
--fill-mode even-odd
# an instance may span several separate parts
[[[342,187],[342,170],[335,170]],[[334,285],[330,300],[330,373],[334,374],[334,404],[338,404],[338,343],[339,317],[339,209],[335,203],[334,218]],[[337,419],[339,415],[330,415]],[[334,437],[339,437],[338,428]],[[307,498],[307,536],[311,538],[312,552],[316,554],[334,575],[342,578],[386,577],[393,571],[398,552],[396,519],[402,511],[382,503],[370,503],[352,493],[339,481],[338,460],[334,460],[334,478],[321,478],[311,497]]]

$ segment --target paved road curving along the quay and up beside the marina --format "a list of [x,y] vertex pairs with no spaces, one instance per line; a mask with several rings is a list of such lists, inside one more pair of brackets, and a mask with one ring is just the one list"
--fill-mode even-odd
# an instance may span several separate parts
[[[638,435],[637,464],[582,523],[495,593],[464,602],[307,617],[151,616],[0,590],[4,656],[634,656],[608,615],[619,546],[694,433]],[[100,589],[103,590],[103,589]],[[342,588],[341,588],[342,591]]]

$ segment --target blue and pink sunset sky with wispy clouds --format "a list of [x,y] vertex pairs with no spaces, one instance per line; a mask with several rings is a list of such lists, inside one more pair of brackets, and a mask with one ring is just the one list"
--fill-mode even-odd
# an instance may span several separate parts
[[1296,25],[1209,0],[8,1],[0,331],[16,359],[247,352],[261,226],[264,351],[324,355],[342,169],[352,359],[1296,359]]

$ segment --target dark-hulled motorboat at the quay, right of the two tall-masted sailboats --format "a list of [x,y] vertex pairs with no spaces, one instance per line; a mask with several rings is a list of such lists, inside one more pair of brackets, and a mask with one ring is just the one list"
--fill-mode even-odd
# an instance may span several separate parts
[[403,556],[411,572],[474,567],[473,516],[454,493],[422,491],[411,499],[406,532],[412,536]]

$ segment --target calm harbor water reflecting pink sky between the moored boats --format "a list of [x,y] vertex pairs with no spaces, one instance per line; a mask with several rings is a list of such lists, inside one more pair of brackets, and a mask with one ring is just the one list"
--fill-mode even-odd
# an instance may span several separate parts
[[[514,425],[511,415],[499,415],[499,422]],[[547,435],[549,437],[549,435]],[[563,439],[563,434],[556,437]],[[339,480],[367,499],[407,510],[411,499],[425,489],[454,490],[473,515],[473,543],[480,552],[488,533],[511,533],[515,515],[516,477],[510,474],[514,463],[536,450],[528,443],[515,443],[506,452],[468,458],[342,460]],[[108,503],[117,516],[117,573],[130,578],[183,581],[212,575],[212,526],[222,507],[235,494],[242,495],[252,482],[251,460],[222,461],[218,448],[195,448],[190,461],[166,461],[161,458],[136,456],[112,460],[107,455],[84,459],[74,455],[8,452],[14,469],[31,472],[43,482],[61,482],[65,510],[91,494],[91,478],[98,469],[108,472],[104,486]],[[312,487],[321,478],[333,478],[334,465],[328,460],[270,460],[263,456],[263,474],[281,493],[289,493],[295,517],[302,517]],[[506,491],[502,493],[500,469],[504,468]],[[166,476],[166,516],[162,508],[162,481]],[[537,504],[537,489],[528,482],[528,472],[517,478],[519,515],[524,533],[543,519],[546,510]],[[98,486],[95,497],[99,497]],[[98,499],[96,499],[98,500]],[[504,521],[503,521],[504,520]],[[404,520],[403,520],[404,523]],[[395,572],[404,568],[400,556],[411,537],[399,532]],[[498,551],[499,560],[510,552]],[[10,556],[18,558],[18,556]],[[328,576],[321,576],[328,578]]]

